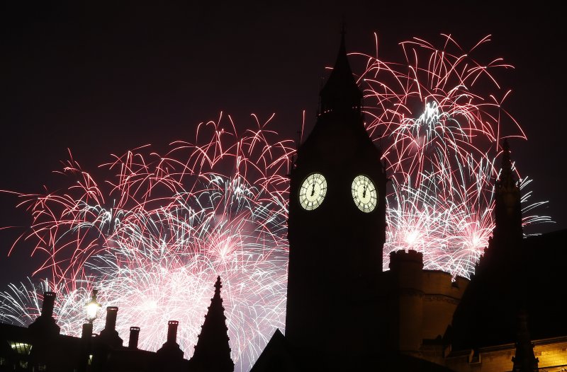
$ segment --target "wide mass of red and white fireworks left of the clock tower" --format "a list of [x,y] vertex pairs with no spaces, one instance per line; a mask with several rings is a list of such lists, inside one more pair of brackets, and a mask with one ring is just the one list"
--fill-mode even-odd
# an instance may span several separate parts
[[147,147],[116,156],[103,165],[111,173],[103,183],[70,158],[65,192],[23,196],[33,215],[26,237],[46,257],[34,274],[50,279],[4,292],[3,320],[28,323],[38,290],[52,289],[62,333],[79,335],[96,287],[101,303],[120,308],[121,335],[141,326],[142,349],[159,349],[164,325],[179,320],[189,357],[220,275],[232,357],[249,366],[284,326],[292,150],[266,124],[244,134],[230,117],[201,124],[194,144],[178,141],[165,156],[148,156]]

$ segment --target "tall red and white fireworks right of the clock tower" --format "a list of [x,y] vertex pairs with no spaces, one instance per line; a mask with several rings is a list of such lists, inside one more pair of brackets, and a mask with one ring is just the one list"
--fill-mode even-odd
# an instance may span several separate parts
[[[504,108],[510,91],[494,77],[512,66],[471,57],[489,41],[464,50],[451,35],[439,45],[415,38],[400,43],[403,63],[357,54],[366,66],[359,77],[366,127],[393,183],[384,269],[392,250],[416,249],[426,269],[469,277],[488,245],[500,141],[526,138]],[[524,217],[535,221],[549,219]]]

